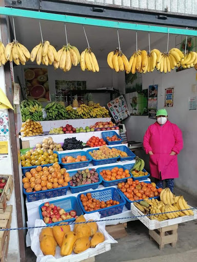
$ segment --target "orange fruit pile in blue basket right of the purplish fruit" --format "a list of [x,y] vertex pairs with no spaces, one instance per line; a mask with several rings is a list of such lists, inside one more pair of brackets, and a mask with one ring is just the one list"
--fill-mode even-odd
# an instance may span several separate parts
[[117,180],[117,179],[124,179],[124,178],[129,178],[131,175],[129,174],[128,169],[123,169],[122,167],[113,167],[111,170],[102,170],[100,172],[101,176],[105,181],[111,181],[111,180]]

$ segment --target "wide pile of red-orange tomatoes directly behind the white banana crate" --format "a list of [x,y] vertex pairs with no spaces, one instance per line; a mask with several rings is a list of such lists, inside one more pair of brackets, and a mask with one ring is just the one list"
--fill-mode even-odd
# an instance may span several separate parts
[[126,183],[117,184],[117,188],[121,189],[130,201],[157,197],[163,190],[162,188],[157,189],[154,183],[148,184],[139,180],[133,181],[132,178],[127,179]]

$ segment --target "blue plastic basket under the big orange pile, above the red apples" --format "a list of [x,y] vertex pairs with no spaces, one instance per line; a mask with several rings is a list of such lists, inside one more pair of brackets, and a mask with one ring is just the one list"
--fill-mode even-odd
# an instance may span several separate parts
[[50,198],[56,198],[56,197],[61,197],[62,195],[66,195],[68,187],[69,187],[69,183],[68,186],[48,189],[44,191],[36,191],[32,193],[27,193],[25,191],[25,188],[23,187],[23,193],[26,195],[28,202],[33,202],[41,199],[50,199]]

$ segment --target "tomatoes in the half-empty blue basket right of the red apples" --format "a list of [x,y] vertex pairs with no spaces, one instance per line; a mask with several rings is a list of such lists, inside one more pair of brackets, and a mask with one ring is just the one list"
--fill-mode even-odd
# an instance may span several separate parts
[[82,202],[82,205],[84,206],[84,209],[87,212],[99,210],[99,209],[102,209],[102,208],[111,207],[111,206],[120,204],[119,201],[115,201],[115,200],[112,200],[112,199],[107,200],[106,202],[93,199],[91,193],[87,193],[86,195],[81,194],[80,200]]

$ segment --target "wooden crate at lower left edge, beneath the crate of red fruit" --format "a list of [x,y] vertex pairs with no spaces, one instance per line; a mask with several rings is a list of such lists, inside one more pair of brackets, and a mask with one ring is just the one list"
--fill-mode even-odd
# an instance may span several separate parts
[[[12,206],[7,206],[3,214],[0,214],[0,229],[10,228],[12,221]],[[0,231],[0,261],[4,262],[8,254],[10,231]]]

